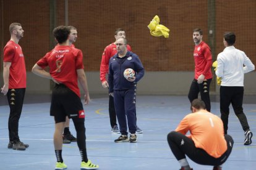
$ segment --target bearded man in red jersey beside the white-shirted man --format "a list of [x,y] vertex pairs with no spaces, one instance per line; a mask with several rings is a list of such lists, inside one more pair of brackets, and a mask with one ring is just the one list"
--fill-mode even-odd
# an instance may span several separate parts
[[211,111],[210,103],[210,83],[211,74],[211,50],[210,47],[202,41],[203,31],[200,28],[195,28],[193,31],[193,39],[195,42],[194,60],[195,60],[195,76],[189,90],[190,103],[198,98],[200,92],[201,99],[205,102],[207,111]]

